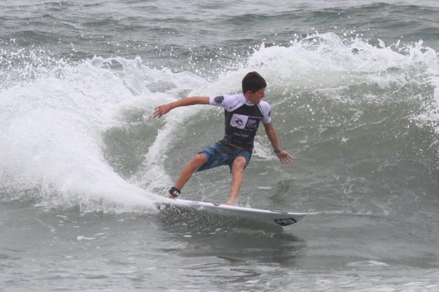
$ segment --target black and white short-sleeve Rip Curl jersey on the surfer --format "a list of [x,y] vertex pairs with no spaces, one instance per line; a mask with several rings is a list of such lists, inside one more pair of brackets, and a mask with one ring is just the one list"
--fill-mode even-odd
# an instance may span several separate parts
[[209,104],[223,106],[225,135],[221,141],[237,147],[253,149],[260,122],[271,122],[269,103],[261,101],[260,104],[253,104],[242,93],[210,97]]

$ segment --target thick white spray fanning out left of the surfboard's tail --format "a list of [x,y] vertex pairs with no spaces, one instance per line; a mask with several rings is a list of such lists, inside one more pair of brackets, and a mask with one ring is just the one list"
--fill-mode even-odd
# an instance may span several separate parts
[[93,61],[3,90],[2,190],[39,190],[41,204],[79,204],[83,211],[150,207],[152,193],[122,179],[102,153],[102,133],[118,124],[121,106],[139,98]]

